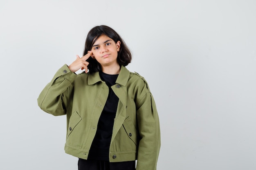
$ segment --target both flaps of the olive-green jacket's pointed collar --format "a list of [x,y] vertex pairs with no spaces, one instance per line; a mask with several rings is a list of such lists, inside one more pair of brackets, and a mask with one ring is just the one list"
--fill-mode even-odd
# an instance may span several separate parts
[[[126,86],[129,79],[130,71],[125,67],[121,66],[120,73],[117,77],[117,84],[121,84],[122,86]],[[90,73],[88,75],[88,84],[92,85],[97,82],[102,82],[101,77],[99,77],[99,72]]]

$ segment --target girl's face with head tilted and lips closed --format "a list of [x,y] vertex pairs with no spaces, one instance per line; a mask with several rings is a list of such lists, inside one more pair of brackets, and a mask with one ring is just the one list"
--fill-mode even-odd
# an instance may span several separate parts
[[[120,50],[120,41],[115,43],[107,35],[101,35],[92,45],[92,57],[102,67],[114,66],[117,62],[117,52]],[[119,64],[118,64],[119,65]]]

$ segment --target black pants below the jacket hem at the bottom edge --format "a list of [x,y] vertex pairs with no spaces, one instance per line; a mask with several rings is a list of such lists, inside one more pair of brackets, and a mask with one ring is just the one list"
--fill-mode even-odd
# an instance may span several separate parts
[[109,162],[79,158],[78,170],[135,170],[135,161]]

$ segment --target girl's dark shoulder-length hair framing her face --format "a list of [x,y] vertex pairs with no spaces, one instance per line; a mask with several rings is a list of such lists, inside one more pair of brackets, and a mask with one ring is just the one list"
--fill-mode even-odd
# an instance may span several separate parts
[[[106,25],[95,26],[89,31],[87,38],[85,40],[83,55],[86,55],[88,51],[92,50],[94,42],[101,35],[108,36],[109,38],[114,40],[115,43],[117,43],[117,41],[121,42],[120,49],[117,53],[117,62],[120,66],[127,66],[132,60],[132,55],[130,53],[128,46],[125,44],[124,40],[115,30]],[[87,61],[89,62],[88,69],[91,73],[101,71],[101,64],[99,64],[97,60],[94,60],[92,57],[89,57]]]

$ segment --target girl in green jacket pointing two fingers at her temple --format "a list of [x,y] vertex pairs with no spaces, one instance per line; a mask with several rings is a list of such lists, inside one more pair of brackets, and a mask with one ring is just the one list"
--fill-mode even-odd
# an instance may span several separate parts
[[116,31],[95,26],[83,57],[62,66],[38,97],[45,112],[67,116],[65,152],[79,158],[79,170],[156,170],[157,109],[146,80],[125,67],[131,59]]

